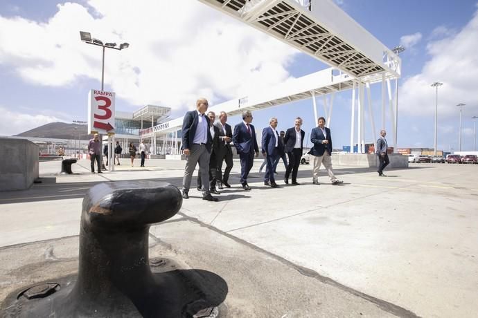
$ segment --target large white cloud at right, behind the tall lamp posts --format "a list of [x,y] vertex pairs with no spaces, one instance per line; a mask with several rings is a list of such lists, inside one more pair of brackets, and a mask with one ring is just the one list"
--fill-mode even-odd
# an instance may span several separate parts
[[478,15],[456,35],[427,44],[430,59],[421,73],[405,79],[400,86],[400,111],[413,115],[435,112],[434,82],[443,82],[438,89],[439,119],[458,115],[457,104],[466,104],[463,114],[477,113],[478,78]]

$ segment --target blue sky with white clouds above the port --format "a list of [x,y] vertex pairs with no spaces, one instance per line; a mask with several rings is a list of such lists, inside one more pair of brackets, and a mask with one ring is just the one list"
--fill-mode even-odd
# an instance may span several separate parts
[[[0,2],[0,135],[52,121],[86,120],[87,93],[100,86],[101,52],[82,44],[79,30],[131,44],[121,52],[107,51],[105,60],[105,89],[116,92],[116,109],[122,111],[157,104],[171,106],[178,117],[199,96],[218,104],[328,67],[199,1],[185,0],[183,8],[168,1],[118,0],[114,8],[111,1],[72,2]],[[477,1],[336,3],[389,48],[407,48],[400,54],[398,147],[433,147],[430,84],[440,81],[439,149],[458,149],[455,105],[463,102],[462,149],[472,150],[471,117],[478,115]],[[372,86],[377,127],[380,89]],[[337,94],[330,124],[335,148],[349,144],[350,109],[351,92]],[[253,123],[262,128],[275,116],[278,128],[287,129],[298,115],[308,133],[315,126],[312,100],[256,111]],[[366,142],[374,139],[367,123]]]

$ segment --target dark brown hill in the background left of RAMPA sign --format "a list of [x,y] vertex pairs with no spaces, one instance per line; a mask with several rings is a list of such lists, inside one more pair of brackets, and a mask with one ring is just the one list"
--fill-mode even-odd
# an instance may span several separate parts
[[30,129],[17,136],[21,137],[39,137],[39,138],[58,138],[58,139],[91,139],[88,133],[88,126],[85,124],[68,124],[66,122],[51,122],[43,126]]

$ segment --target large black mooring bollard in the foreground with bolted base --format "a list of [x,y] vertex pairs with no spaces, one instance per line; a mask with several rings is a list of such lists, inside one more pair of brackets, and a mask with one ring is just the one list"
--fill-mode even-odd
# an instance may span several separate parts
[[92,187],[82,205],[78,277],[17,292],[16,300],[10,297],[2,306],[5,317],[193,317],[198,312],[197,317],[218,317],[215,306],[224,300],[227,284],[217,275],[202,274],[220,290],[209,297],[188,270],[150,268],[150,225],[174,216],[181,205],[179,189],[166,183]]

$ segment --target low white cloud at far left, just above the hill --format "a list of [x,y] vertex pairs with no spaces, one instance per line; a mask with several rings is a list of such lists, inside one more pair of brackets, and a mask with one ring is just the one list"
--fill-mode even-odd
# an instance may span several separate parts
[[49,122],[64,122],[61,118],[52,115],[28,115],[26,113],[10,111],[3,106],[0,106],[0,113],[0,135],[16,135]]

